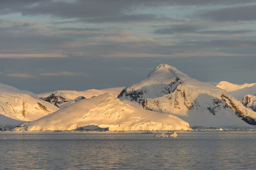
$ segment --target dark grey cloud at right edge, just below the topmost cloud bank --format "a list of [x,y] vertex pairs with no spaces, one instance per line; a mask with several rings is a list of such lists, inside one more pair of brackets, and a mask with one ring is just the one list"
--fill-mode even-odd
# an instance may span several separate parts
[[251,21],[256,20],[256,5],[239,6],[233,8],[210,9],[197,14],[198,17],[225,21]]

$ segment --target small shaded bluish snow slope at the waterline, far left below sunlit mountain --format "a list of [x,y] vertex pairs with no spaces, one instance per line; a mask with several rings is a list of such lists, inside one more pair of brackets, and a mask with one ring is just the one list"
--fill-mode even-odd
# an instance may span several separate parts
[[24,122],[0,114],[0,131],[12,129]]

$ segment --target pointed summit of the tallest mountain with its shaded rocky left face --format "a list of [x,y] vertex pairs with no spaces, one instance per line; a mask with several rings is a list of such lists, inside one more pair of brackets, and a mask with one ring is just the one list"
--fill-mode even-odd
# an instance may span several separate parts
[[195,80],[167,64],[159,64],[148,77],[139,83],[126,87],[118,98],[140,102],[145,98],[160,97],[170,94],[177,85],[184,81]]

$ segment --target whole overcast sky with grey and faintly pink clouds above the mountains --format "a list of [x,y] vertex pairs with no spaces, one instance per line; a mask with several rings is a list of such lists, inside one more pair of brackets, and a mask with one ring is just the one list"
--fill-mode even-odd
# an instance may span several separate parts
[[199,81],[255,83],[256,1],[0,1],[1,83],[122,87],[160,63]]

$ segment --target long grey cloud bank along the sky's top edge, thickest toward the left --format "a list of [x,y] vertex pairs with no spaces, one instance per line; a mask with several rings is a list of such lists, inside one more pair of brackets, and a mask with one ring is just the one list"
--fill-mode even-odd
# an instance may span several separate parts
[[0,13],[22,15],[52,15],[62,18],[106,17],[125,14],[139,7],[229,5],[245,4],[254,0],[2,0]]

